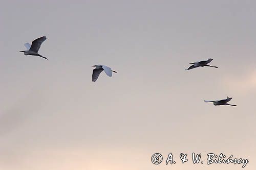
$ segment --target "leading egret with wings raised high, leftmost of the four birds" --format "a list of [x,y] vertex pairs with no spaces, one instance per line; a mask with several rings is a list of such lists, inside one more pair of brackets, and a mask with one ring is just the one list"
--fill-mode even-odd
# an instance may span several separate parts
[[38,54],[38,50],[39,50],[42,42],[44,42],[45,40],[46,40],[46,36],[42,36],[42,37],[37,38],[34,41],[32,41],[31,45],[27,42],[27,43],[24,44],[26,46],[27,50],[26,51],[19,51],[19,52],[23,52],[24,55],[26,55],[26,56],[27,55],[39,56],[39,57],[47,59],[46,57]]

